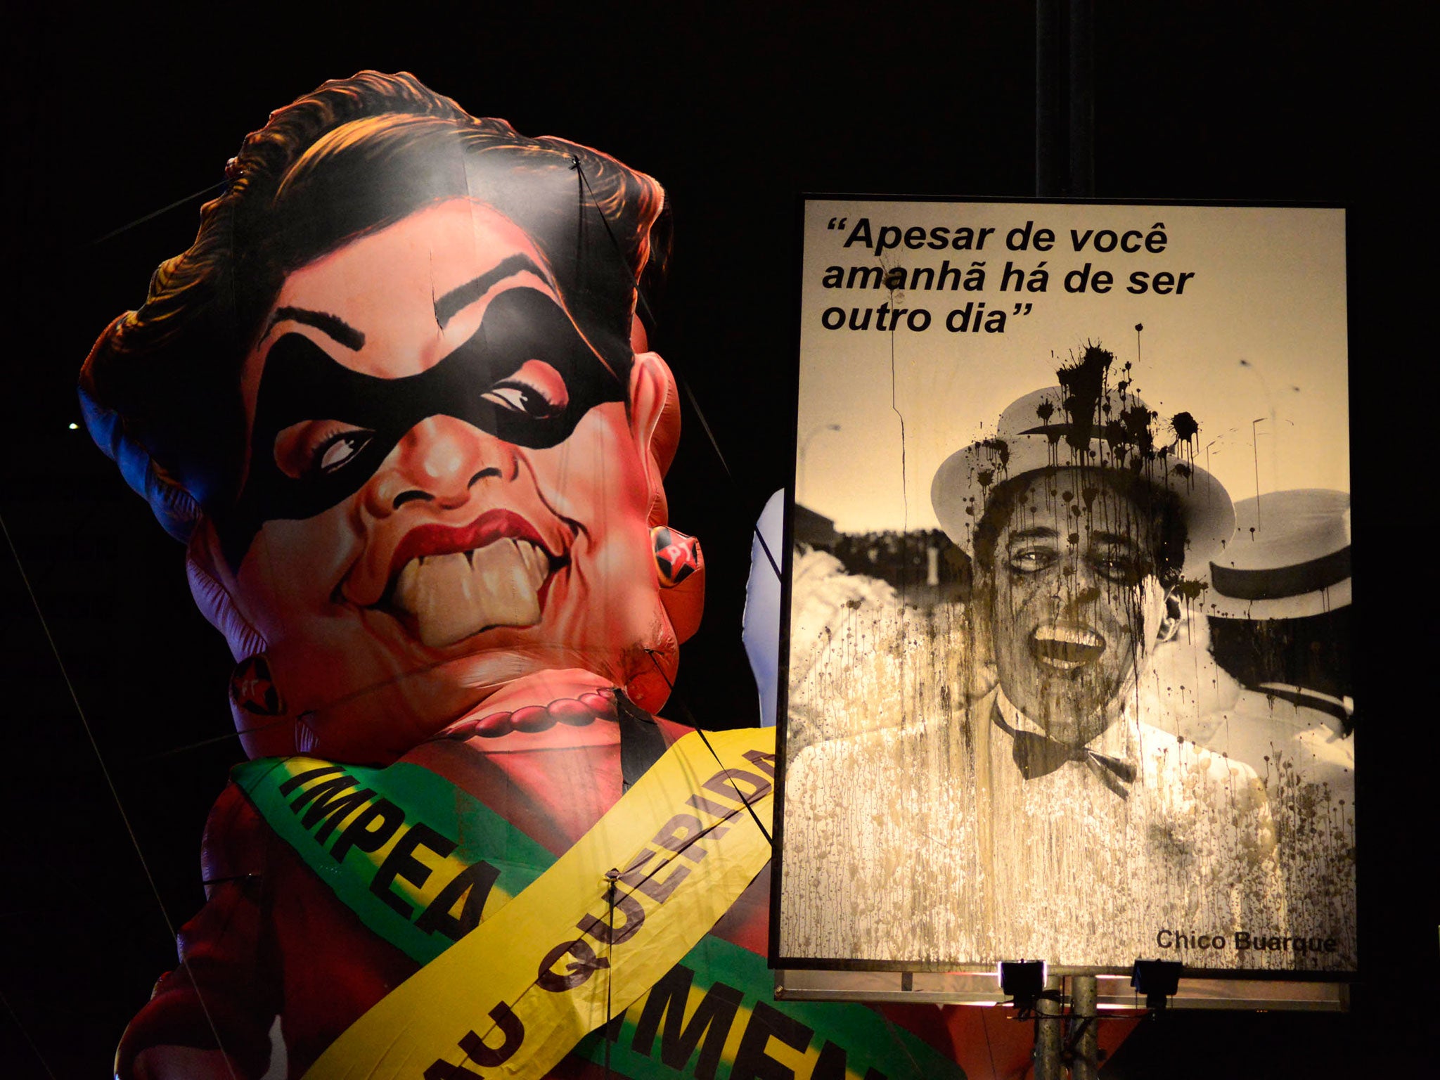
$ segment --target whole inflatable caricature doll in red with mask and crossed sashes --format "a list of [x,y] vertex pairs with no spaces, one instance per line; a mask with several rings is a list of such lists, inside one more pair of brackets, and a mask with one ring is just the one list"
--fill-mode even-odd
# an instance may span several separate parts
[[[652,716],[703,589],[661,485],[675,383],[634,315],[661,187],[372,72],[226,176],[81,376],[187,543],[251,759],[117,1074],[988,1060],[978,1018],[773,999],[773,732]],[[1028,1056],[1028,1027],[991,1034]]]

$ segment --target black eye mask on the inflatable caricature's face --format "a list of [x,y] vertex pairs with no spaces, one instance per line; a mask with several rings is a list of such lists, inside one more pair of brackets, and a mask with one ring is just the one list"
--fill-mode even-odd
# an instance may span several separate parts
[[[531,413],[484,397],[526,360],[543,360],[559,372],[569,393],[564,409],[541,405]],[[570,438],[596,405],[622,400],[619,377],[560,307],[530,288],[495,297],[465,344],[429,370],[402,379],[361,374],[302,334],[285,334],[265,357],[249,478],[233,510],[216,521],[225,557],[238,569],[266,521],[314,517],[353,495],[405,433],[429,416],[454,416],[516,446],[546,449]],[[343,464],[289,477],[275,461],[275,439],[308,420],[361,428],[367,441]]]

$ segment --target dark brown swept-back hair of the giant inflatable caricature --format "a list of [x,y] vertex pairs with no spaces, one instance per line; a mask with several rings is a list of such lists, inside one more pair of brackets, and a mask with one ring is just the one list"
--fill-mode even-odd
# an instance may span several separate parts
[[240,364],[285,276],[431,203],[472,197],[524,229],[628,380],[636,282],[665,255],[664,192],[644,173],[471,117],[413,75],[360,72],[271,114],[225,176],[194,243],[156,269],[144,305],[107,327],[81,370],[92,436],[173,536],[236,494]]

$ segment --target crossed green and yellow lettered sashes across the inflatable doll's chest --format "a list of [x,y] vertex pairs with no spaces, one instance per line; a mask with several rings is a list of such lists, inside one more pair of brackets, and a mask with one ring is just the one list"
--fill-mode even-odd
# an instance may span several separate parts
[[765,959],[707,935],[770,855],[775,734],[708,742],[678,740],[559,860],[420,766],[239,766],[336,896],[425,965],[307,1080],[543,1077],[572,1050],[635,1080],[960,1077],[864,1007],[776,1005]]

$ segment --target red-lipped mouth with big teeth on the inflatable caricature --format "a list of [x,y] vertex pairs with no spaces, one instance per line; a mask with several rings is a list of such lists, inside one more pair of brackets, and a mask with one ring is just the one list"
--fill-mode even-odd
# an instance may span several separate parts
[[420,644],[442,648],[497,626],[540,622],[550,579],[566,564],[523,517],[491,510],[467,527],[410,531],[395,552],[377,606]]

